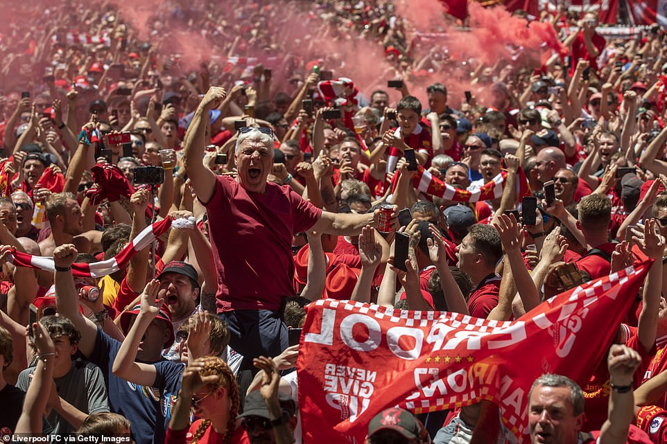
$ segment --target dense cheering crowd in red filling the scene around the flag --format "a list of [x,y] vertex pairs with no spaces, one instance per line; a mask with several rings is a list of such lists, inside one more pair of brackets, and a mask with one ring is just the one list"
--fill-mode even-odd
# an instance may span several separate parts
[[363,426],[667,443],[667,33],[496,9],[553,38],[490,63],[401,1],[226,6],[37,2],[0,25],[3,441],[309,443],[309,303],[496,325],[646,265],[594,373],[536,375],[529,435],[474,397]]

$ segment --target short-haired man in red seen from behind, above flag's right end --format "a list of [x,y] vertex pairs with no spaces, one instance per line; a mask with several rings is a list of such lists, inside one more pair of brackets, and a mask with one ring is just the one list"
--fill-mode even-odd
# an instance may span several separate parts
[[577,227],[584,233],[589,250],[578,259],[577,268],[591,278],[607,276],[612,269],[612,253],[616,245],[609,242],[609,222],[612,220],[612,201],[602,194],[591,194],[579,202]]

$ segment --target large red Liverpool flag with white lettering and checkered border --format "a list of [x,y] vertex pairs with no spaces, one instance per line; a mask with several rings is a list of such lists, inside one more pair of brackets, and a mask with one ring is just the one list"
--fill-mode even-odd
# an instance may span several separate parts
[[362,443],[370,418],[387,407],[420,414],[480,400],[499,405],[521,441],[532,382],[543,373],[587,382],[651,262],[554,296],[512,322],[311,303],[297,359],[304,441]]

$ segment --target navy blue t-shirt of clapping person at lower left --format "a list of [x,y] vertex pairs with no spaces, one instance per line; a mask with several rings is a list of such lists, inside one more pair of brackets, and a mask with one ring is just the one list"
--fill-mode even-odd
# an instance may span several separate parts
[[155,362],[155,384],[153,387],[140,387],[113,374],[112,366],[120,348],[120,341],[98,328],[95,348],[88,360],[101,368],[107,384],[109,407],[130,420],[135,442],[163,444],[184,365]]

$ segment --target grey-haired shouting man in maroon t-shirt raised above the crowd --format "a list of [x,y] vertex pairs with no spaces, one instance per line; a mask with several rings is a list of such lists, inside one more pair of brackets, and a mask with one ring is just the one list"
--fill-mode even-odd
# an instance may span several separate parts
[[[236,141],[236,178],[216,176],[202,163],[207,116],[225,98],[211,87],[196,110],[185,141],[185,168],[205,204],[218,273],[218,314],[229,324],[231,346],[247,360],[275,356],[288,345],[278,310],[293,296],[292,238],[309,229],[354,236],[374,214],[329,213],[289,187],[267,183],[274,136],[266,128],[243,127]],[[247,365],[252,368],[252,365]]]

